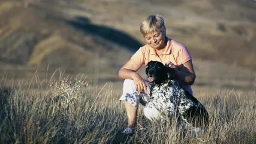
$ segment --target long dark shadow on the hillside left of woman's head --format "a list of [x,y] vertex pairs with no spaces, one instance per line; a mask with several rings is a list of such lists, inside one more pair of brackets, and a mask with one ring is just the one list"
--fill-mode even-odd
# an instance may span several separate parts
[[132,52],[135,52],[138,50],[138,48],[140,48],[140,46],[142,46],[140,42],[125,32],[103,25],[91,24],[90,20],[85,17],[78,16],[76,17],[76,20],[65,21],[67,24],[76,29],[82,30],[85,33],[92,33],[96,36],[103,37],[104,39],[116,43],[120,46],[125,46]]

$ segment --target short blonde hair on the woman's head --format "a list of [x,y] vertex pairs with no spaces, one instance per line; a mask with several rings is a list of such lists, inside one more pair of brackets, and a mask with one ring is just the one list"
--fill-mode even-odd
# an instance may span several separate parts
[[140,24],[140,33],[146,36],[154,31],[166,34],[164,18],[161,15],[152,14],[145,18]]

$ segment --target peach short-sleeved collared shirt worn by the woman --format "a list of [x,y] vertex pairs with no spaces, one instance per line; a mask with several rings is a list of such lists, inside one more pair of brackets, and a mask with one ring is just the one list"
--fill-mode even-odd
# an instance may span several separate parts
[[[179,68],[181,64],[191,60],[191,55],[188,49],[172,39],[168,39],[167,45],[165,46],[165,51],[161,55],[156,54],[156,50],[151,48],[149,45],[144,45],[134,53],[131,57],[132,62],[139,67],[142,67],[143,64],[147,66],[149,61],[159,61],[163,64],[166,64],[168,61],[171,61],[176,67]],[[182,86],[186,91],[192,94],[192,89],[190,85]]]

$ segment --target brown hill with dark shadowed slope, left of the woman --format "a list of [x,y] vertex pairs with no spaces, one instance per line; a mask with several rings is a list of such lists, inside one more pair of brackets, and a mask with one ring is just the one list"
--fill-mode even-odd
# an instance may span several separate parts
[[85,73],[93,73],[97,66],[113,72],[111,67],[121,67],[123,58],[129,58],[124,53],[141,46],[129,34],[90,24],[86,17],[65,17],[61,5],[31,2],[27,8],[23,1],[0,2],[1,63],[40,67],[49,63],[52,68],[82,68]]

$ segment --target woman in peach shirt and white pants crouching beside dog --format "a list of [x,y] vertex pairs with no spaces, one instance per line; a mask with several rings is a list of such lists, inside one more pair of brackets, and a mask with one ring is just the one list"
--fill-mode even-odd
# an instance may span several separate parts
[[[195,81],[195,72],[191,55],[188,49],[166,36],[164,19],[160,15],[149,15],[140,25],[140,32],[146,40],[146,45],[142,46],[119,70],[119,77],[124,79],[123,94],[120,101],[124,101],[128,117],[128,128],[123,134],[132,134],[136,126],[138,105],[146,105],[149,102],[148,83],[136,73],[144,64],[147,67],[149,61],[159,61],[168,67],[175,68],[175,79],[180,85],[192,94],[191,85]],[[159,119],[157,111],[144,110],[145,116]]]

